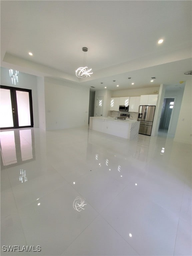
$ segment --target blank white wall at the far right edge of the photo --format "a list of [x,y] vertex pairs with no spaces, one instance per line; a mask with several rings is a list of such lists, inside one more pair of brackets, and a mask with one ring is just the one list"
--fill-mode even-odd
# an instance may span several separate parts
[[192,143],[192,89],[191,81],[186,81],[183,93],[183,100],[179,113],[179,119],[175,132],[174,141]]

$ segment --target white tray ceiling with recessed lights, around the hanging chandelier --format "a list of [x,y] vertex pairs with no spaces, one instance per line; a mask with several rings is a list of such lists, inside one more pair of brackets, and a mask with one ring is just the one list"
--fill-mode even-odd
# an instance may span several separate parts
[[[191,1],[1,0],[0,4],[2,67],[94,90],[162,83],[175,89],[184,84],[180,81],[191,80],[184,74],[192,70]],[[158,44],[161,38],[164,42]],[[82,47],[88,48],[86,64],[93,70],[86,79],[75,75],[83,64]],[[151,77],[156,77],[154,82]]]

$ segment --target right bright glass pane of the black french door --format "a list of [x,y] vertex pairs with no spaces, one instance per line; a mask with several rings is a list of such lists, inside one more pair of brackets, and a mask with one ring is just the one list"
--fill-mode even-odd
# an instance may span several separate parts
[[29,92],[16,91],[19,126],[30,126]]

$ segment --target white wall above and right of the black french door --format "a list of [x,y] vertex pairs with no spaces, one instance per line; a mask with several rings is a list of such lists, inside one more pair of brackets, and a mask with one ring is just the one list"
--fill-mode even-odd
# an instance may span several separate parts
[[33,123],[34,127],[39,127],[36,76],[19,72],[18,83],[14,85],[9,76],[9,69],[1,67],[1,85],[32,90]]

